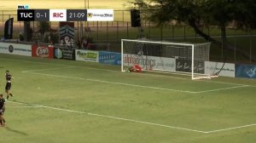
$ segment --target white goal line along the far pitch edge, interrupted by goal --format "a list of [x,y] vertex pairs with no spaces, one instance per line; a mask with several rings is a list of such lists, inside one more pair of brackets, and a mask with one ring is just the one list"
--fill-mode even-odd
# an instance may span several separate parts
[[[10,60],[7,58],[0,58],[1,60]],[[56,63],[45,63],[45,62],[37,62],[37,61],[29,61],[29,60],[11,60],[11,61],[19,61],[19,62],[27,62],[27,63],[34,63],[34,64],[42,64],[42,65],[50,65],[50,66],[70,66],[70,65],[65,65],[65,64],[56,64]],[[85,69],[93,69],[93,70],[99,70],[99,71],[108,71],[108,72],[120,72],[116,70],[107,70],[107,69],[100,69],[100,68],[94,68],[94,67],[86,67],[86,66],[73,66],[73,67],[79,67],[79,68],[85,68]],[[191,78],[186,78],[186,77],[172,77],[172,76],[161,76],[161,75],[154,75],[154,74],[142,74],[145,76],[152,76],[152,77],[166,77],[166,78],[178,78],[178,79],[183,79],[183,80],[189,80],[191,81]],[[249,80],[249,79],[248,79]],[[223,84],[230,84],[230,85],[247,85],[247,84],[238,84],[238,83],[227,83],[227,82],[218,82],[218,81],[212,81],[212,80],[195,80],[195,82],[209,82],[209,83],[223,83]],[[251,87],[256,87],[254,85],[247,85]]]

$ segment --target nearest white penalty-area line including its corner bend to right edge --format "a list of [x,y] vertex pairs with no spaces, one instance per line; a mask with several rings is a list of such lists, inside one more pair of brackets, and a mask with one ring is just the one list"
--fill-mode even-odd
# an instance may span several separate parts
[[[15,101],[8,101],[8,102],[15,103],[15,104],[32,105],[32,104],[20,103],[20,102],[15,102]],[[233,127],[233,128],[227,128],[227,129],[218,129],[218,130],[212,130],[212,131],[201,131],[201,130],[196,130],[196,129],[186,129],[186,128],[181,128],[181,127],[175,127],[175,126],[170,126],[170,125],[165,125],[165,124],[160,124],[160,123],[149,123],[149,122],[144,122],[144,121],[139,121],[139,120],[134,120],[134,119],[129,119],[129,118],[123,118],[123,117],[113,117],[113,116],[101,115],[101,114],[90,113],[90,112],[79,112],[79,111],[57,108],[57,107],[51,107],[51,106],[43,106],[43,105],[33,105],[33,106],[48,108],[48,109],[61,111],[61,112],[73,112],[73,113],[79,113],[79,114],[86,114],[86,115],[90,115],[90,116],[105,117],[105,118],[127,121],[127,122],[132,122],[132,123],[143,123],[143,124],[148,124],[148,125],[153,125],[153,126],[165,127],[165,128],[169,128],[169,129],[179,129],[179,130],[185,130],[185,131],[202,133],[202,134],[213,134],[213,133],[218,133],[218,132],[223,132],[223,131],[243,129],[243,128],[256,126],[256,123],[253,123],[253,124],[247,124],[247,125],[237,126],[237,127]]]

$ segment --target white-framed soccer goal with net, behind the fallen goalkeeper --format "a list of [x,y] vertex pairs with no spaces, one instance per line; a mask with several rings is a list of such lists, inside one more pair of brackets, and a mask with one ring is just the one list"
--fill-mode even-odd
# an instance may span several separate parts
[[206,75],[211,43],[170,43],[143,40],[121,40],[121,71],[138,65],[148,72],[175,72],[192,79],[217,77]]

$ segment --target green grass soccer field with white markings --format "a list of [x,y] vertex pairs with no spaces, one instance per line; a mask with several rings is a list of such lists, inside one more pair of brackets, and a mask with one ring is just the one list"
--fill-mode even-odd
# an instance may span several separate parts
[[[254,143],[256,80],[0,54],[1,143]],[[5,94],[4,94],[5,95]],[[6,96],[5,96],[6,97]]]

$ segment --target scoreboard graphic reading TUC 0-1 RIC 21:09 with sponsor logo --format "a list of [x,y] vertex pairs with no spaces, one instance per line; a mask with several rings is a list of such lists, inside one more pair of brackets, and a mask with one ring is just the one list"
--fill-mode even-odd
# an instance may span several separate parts
[[18,21],[113,21],[113,9],[17,9]]

